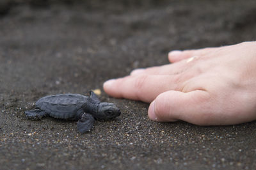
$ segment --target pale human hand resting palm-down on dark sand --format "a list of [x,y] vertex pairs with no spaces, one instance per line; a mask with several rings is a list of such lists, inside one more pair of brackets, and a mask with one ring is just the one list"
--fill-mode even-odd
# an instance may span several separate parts
[[168,59],[172,64],[111,79],[104,91],[151,103],[148,117],[154,121],[234,125],[256,120],[256,42],[175,50]]

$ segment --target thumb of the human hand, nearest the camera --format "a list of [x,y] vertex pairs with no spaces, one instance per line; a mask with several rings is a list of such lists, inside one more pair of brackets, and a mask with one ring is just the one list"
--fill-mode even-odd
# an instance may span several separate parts
[[148,108],[148,117],[154,121],[188,121],[196,125],[209,125],[209,93],[203,90],[166,91],[157,96]]

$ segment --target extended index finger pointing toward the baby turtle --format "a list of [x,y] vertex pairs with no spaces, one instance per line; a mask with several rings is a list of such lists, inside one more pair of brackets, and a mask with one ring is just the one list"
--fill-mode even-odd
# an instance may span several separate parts
[[103,88],[112,97],[152,102],[164,91],[181,88],[188,78],[181,75],[141,74],[107,81]]

